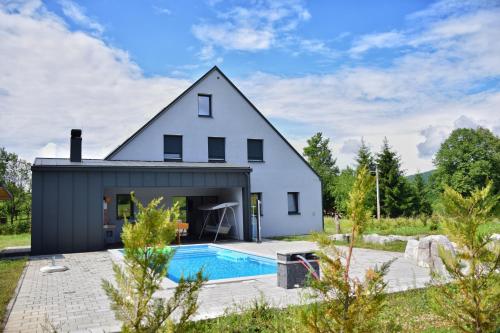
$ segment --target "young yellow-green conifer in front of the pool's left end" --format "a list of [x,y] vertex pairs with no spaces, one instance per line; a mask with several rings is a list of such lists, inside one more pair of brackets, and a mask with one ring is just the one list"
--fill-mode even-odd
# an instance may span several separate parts
[[[162,198],[143,206],[132,193],[138,208],[135,223],[125,218],[122,231],[124,266],[113,264],[116,287],[103,280],[111,308],[121,320],[123,332],[182,332],[197,310],[202,272],[189,280],[181,278],[169,299],[155,298],[166,276],[174,251],[167,248],[175,238],[179,207],[158,207]],[[176,323],[172,314],[178,311]]]

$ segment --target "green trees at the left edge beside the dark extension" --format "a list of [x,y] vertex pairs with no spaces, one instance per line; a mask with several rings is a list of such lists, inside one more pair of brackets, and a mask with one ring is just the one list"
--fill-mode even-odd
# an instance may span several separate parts
[[0,219],[11,223],[31,216],[31,164],[0,147],[0,186],[12,195],[12,200],[0,201]]

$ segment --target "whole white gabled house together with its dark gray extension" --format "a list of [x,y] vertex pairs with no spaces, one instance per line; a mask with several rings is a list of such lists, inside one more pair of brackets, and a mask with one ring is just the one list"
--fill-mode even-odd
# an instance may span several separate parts
[[[75,146],[78,147],[78,142]],[[75,149],[74,152],[73,145],[72,154],[76,156],[74,162],[71,159],[37,159],[33,166],[33,211],[35,215],[38,208],[42,216],[33,221],[35,251],[39,242],[39,252],[50,252],[44,246],[47,242],[43,237],[36,235],[37,229],[59,230],[61,224],[64,229],[65,223],[60,219],[57,225],[49,222],[50,216],[44,219],[47,213],[43,212],[43,207],[47,202],[37,202],[36,192],[47,191],[44,185],[50,186],[46,171],[57,171],[58,179],[64,172],[92,171],[86,173],[85,181],[89,183],[100,177],[100,183],[94,189],[95,194],[88,197],[95,200],[94,196],[100,196],[100,200],[106,201],[100,225],[90,219],[87,221],[92,224],[87,227],[87,242],[78,240],[80,236],[75,235],[79,244],[66,242],[64,245],[59,244],[63,241],[59,240],[59,245],[51,247],[54,249],[65,246],[69,251],[95,248],[97,242],[89,244],[88,239],[89,234],[94,235],[91,238],[97,237],[98,227],[100,237],[106,239],[116,226],[113,237],[117,240],[122,224],[120,215],[133,215],[130,191],[143,202],[158,196],[165,198],[166,205],[179,201],[184,210],[183,219],[190,224],[189,232],[193,235],[199,233],[203,223],[203,214],[198,210],[200,205],[230,201],[238,203],[232,237],[251,240],[255,236],[251,224],[255,220],[257,199],[262,203],[263,237],[323,229],[318,175],[217,67],[203,75],[104,160],[81,160],[80,151]],[[67,182],[71,189],[66,191],[78,195],[75,176]],[[65,186],[65,180],[59,179],[58,184],[59,188],[53,190],[60,198],[60,187],[61,184]],[[43,200],[40,198],[40,201]],[[53,203],[61,204],[60,200]],[[74,204],[72,209],[75,209]],[[66,212],[66,208],[61,210],[67,216],[75,216],[74,212]],[[87,213],[92,214],[96,218],[99,215],[94,211]],[[75,228],[83,230],[75,221],[70,224],[73,234]]]

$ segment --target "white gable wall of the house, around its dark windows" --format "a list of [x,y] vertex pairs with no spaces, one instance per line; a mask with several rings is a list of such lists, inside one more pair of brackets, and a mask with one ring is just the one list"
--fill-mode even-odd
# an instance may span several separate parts
[[[198,116],[198,94],[212,95],[212,116]],[[322,230],[316,174],[218,71],[212,71],[111,159],[163,161],[163,136],[183,136],[183,161],[207,162],[208,137],[226,138],[226,161],[252,168],[262,193],[264,237]],[[248,162],[247,139],[264,140],[264,162]],[[288,215],[287,192],[299,192],[300,215]]]

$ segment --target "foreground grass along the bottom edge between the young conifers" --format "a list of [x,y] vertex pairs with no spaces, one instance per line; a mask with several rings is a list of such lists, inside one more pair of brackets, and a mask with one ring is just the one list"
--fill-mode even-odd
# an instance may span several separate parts
[[[300,319],[305,309],[306,306],[273,309],[255,302],[247,309],[235,306],[233,313],[228,312],[224,317],[194,322],[187,332],[306,332]],[[426,289],[388,295],[380,321],[384,332],[455,332],[432,313]]]

